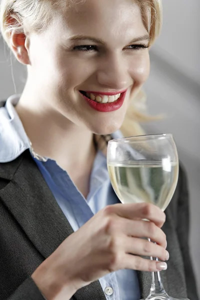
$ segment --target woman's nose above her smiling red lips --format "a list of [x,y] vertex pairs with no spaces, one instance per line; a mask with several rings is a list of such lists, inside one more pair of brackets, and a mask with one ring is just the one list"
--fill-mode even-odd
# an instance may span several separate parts
[[112,54],[99,62],[97,81],[101,86],[114,90],[127,88],[132,79],[128,72],[128,63],[123,57]]

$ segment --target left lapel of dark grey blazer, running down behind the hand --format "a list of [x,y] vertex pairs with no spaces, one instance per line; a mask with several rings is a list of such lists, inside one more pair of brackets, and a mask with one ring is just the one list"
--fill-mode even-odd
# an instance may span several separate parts
[[[47,258],[73,229],[31,158],[29,150],[16,160],[3,165],[0,177],[11,180],[0,190],[0,197],[34,247]],[[77,300],[105,300],[98,280],[79,289],[74,296]]]

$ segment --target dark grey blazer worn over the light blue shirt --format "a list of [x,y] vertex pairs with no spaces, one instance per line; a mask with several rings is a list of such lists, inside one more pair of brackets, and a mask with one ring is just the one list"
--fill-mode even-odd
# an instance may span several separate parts
[[[168,268],[161,272],[164,288],[176,298],[197,300],[188,248],[187,187],[181,168],[163,230],[170,253]],[[0,300],[43,300],[30,275],[72,232],[28,150],[11,162],[0,163]],[[138,272],[138,278],[145,298],[151,274]],[[105,295],[96,280],[77,290],[71,300],[105,300]]]

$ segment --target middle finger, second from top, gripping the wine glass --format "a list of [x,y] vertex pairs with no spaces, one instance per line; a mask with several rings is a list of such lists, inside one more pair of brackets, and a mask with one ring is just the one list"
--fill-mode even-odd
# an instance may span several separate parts
[[166,248],[166,235],[153,222],[121,218],[119,230],[133,237],[149,237],[151,240]]

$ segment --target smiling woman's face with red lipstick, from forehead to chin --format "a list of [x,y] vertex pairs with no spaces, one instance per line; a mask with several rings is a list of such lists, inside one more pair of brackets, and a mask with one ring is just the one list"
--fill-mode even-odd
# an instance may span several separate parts
[[97,134],[115,131],[148,76],[148,41],[132,0],[85,0],[62,10],[30,35],[35,105]]

